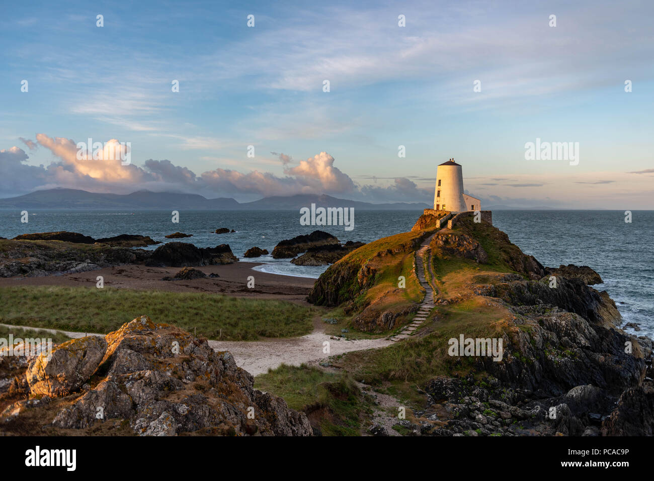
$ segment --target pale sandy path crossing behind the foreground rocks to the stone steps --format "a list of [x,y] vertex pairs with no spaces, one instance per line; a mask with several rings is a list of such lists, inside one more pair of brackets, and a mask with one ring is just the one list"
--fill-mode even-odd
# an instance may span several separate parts
[[[20,329],[39,329],[49,333],[61,332],[77,339],[84,337],[85,333],[62,331],[61,329],[46,329],[43,327],[31,327],[29,325],[9,325],[0,324],[10,328]],[[103,334],[86,333],[90,336],[103,336]],[[329,342],[330,352],[322,352],[323,342]],[[301,337],[292,337],[290,339],[267,339],[256,341],[222,341],[209,340],[209,346],[216,351],[229,351],[239,365],[253,376],[267,373],[268,369],[275,369],[281,363],[299,366],[301,363],[311,363],[326,359],[329,356],[343,354],[345,352],[360,351],[371,348],[382,348],[393,344],[387,339],[360,339],[345,340],[341,338],[331,338],[329,335],[320,330],[319,327],[311,334]]]

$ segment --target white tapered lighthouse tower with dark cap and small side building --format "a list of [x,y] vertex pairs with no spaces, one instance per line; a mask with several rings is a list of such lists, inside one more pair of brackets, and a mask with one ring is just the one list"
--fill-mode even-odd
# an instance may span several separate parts
[[436,192],[434,210],[466,212],[481,210],[481,201],[463,193],[463,172],[454,159],[441,163],[436,169]]

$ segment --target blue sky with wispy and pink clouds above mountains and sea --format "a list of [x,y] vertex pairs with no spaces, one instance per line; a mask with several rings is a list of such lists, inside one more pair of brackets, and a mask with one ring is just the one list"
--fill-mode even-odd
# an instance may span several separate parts
[[[454,157],[485,205],[654,208],[651,2],[314,4],[12,5],[0,196],[430,202]],[[88,138],[129,142],[131,165],[75,158]],[[579,142],[579,163],[526,160],[536,138]]]

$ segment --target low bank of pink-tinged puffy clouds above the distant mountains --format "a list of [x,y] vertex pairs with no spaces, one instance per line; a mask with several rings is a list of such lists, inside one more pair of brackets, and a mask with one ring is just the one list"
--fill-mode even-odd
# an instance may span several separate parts
[[[129,193],[135,190],[186,191],[207,197],[294,195],[298,193],[326,193],[347,195],[369,201],[415,201],[428,199],[429,193],[417,188],[414,182],[396,178],[395,184],[383,187],[357,186],[347,174],[334,166],[334,158],[320,152],[292,165],[292,158],[279,155],[284,165],[284,176],[269,172],[241,173],[230,169],[215,169],[199,176],[186,167],[174,165],[167,159],[148,159],[143,167],[122,165],[120,142],[111,139],[89,150],[78,148],[77,142],[63,137],[36,136],[40,146],[57,158],[47,167],[25,165],[24,150],[12,147],[0,152],[0,189],[7,193],[24,193],[36,188],[67,187],[91,191]],[[26,142],[27,143],[27,142]]]

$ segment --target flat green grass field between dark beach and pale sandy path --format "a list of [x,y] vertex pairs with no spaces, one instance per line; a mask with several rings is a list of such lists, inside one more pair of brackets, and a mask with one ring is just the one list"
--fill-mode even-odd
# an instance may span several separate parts
[[63,331],[108,333],[143,314],[207,339],[294,337],[313,328],[313,308],[219,294],[20,286],[0,288],[0,299],[0,323]]

